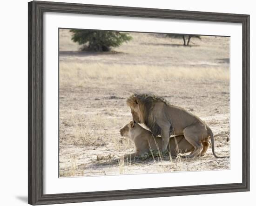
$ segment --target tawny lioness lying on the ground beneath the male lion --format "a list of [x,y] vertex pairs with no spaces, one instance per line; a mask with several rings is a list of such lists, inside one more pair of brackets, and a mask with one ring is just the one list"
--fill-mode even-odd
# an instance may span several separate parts
[[[140,156],[150,150],[159,151],[159,148],[161,148],[161,137],[154,137],[150,131],[144,129],[135,121],[131,121],[129,124],[121,128],[120,134],[121,136],[128,137],[132,140],[136,147],[135,153],[124,155],[124,159],[134,159],[136,156]],[[175,138],[170,139],[170,148],[168,148],[172,156],[176,156],[178,153],[188,153],[194,149],[183,135],[176,136]],[[204,153],[202,153],[202,155],[203,154]]]

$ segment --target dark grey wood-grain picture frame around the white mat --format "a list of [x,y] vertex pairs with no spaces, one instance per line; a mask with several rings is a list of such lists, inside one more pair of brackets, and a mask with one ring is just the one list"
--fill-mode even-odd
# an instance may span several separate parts
[[[242,24],[242,183],[43,194],[43,13],[83,13]],[[249,15],[31,1],[28,3],[28,203],[31,205],[249,191]]]

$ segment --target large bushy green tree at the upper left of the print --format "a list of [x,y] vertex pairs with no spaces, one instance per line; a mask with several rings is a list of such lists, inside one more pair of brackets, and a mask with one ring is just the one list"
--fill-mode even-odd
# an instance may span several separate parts
[[119,47],[123,42],[132,39],[128,33],[99,30],[71,29],[72,40],[84,45],[82,50],[108,52],[110,47]]

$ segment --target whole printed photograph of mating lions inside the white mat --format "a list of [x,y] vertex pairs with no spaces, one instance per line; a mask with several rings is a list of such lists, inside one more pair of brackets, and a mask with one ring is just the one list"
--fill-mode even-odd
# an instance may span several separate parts
[[59,176],[228,170],[229,37],[59,29]]

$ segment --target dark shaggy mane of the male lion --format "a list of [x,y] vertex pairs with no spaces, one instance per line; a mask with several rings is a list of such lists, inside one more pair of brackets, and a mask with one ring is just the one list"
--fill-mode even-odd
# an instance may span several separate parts
[[[155,106],[156,102],[163,102],[164,104],[168,105],[168,101],[163,99],[162,97],[156,96],[154,94],[133,94],[133,98],[138,100],[138,103],[142,106],[143,111],[142,115],[144,118],[144,124],[150,129],[153,135],[156,137],[157,135],[161,135],[161,128],[156,123],[155,117],[152,114],[152,110]],[[130,97],[131,98],[131,97]],[[171,121],[170,121],[171,123]],[[173,126],[170,126],[170,134],[173,133]]]

